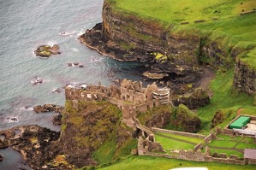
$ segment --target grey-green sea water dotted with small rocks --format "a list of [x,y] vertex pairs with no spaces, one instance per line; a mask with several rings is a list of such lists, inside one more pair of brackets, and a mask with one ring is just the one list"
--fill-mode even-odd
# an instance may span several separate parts
[[[113,61],[77,40],[102,21],[102,5],[103,0],[0,0],[0,130],[31,124],[59,130],[51,124],[53,113],[35,114],[32,108],[45,103],[64,105],[66,84],[110,85],[113,79],[142,79],[137,73],[140,64]],[[35,56],[33,51],[41,44],[59,44],[62,54],[48,59]],[[68,62],[84,67],[66,67]],[[33,85],[35,76],[45,82]],[[56,88],[62,92],[53,93]],[[13,117],[18,120],[8,120]],[[0,169],[15,169],[8,167],[11,162],[3,162]]]

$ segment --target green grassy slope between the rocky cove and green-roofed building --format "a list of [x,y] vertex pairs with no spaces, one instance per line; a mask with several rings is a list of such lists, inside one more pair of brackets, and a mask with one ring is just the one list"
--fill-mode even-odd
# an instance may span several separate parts
[[[221,124],[224,127],[230,120],[235,118],[238,108],[253,108],[253,97],[248,97],[246,94],[238,93],[232,87],[233,70],[226,73],[218,72],[215,79],[211,82],[211,90],[214,95],[211,98],[209,105],[198,109],[200,120],[202,120],[202,133],[208,134],[211,119],[217,112],[218,108],[223,108],[223,111],[230,112],[229,119]],[[247,113],[256,114],[256,113]]]

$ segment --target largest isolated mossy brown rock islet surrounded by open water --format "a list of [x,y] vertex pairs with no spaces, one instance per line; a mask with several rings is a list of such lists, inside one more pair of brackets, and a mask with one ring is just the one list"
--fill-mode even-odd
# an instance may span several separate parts
[[50,45],[40,45],[37,50],[34,51],[36,56],[41,57],[50,57],[51,55],[59,55],[61,54],[59,50],[59,46],[57,44],[54,44],[52,47]]

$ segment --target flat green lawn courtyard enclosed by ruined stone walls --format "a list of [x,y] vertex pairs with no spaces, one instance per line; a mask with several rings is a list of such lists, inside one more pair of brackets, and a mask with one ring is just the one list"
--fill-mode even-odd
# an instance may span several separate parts
[[211,149],[211,155],[214,152],[217,154],[225,153],[228,156],[237,155],[238,157],[243,157],[244,149],[255,149],[256,144],[253,144],[253,138],[247,137],[229,137],[227,135],[217,135],[219,140],[212,140],[210,144],[205,144],[203,139],[185,137],[182,135],[164,133],[164,132],[154,132],[156,141],[160,143],[164,150],[169,153],[170,149],[193,149],[196,144],[202,143],[205,152],[205,146]]

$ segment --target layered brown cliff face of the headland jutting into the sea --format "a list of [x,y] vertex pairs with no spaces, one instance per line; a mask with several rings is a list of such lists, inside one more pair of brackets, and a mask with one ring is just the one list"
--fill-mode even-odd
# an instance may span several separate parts
[[[123,62],[154,62],[152,69],[158,73],[188,75],[198,71],[198,36],[176,35],[170,33],[173,25],[164,27],[156,21],[116,12],[108,1],[104,1],[102,16],[102,24],[80,37],[90,48]],[[164,60],[152,53],[163,55]],[[159,63],[166,67],[159,68]]]

